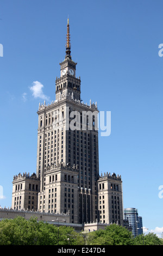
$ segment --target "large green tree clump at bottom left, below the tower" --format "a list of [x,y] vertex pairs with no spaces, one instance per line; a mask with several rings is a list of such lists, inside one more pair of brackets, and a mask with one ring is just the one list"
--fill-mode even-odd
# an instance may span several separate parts
[[84,237],[71,227],[57,227],[37,218],[17,217],[0,222],[0,245],[83,245]]

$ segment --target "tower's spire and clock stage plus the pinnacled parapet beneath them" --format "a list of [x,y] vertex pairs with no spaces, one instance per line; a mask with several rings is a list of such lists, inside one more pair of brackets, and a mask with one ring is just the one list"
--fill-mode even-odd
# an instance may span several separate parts
[[57,77],[55,80],[55,94],[56,99],[51,102],[51,104],[40,105],[39,103],[39,111],[38,114],[43,113],[44,111],[49,111],[50,108],[53,108],[57,103],[68,100],[75,102],[80,106],[84,106],[88,109],[92,109],[92,111],[97,110],[97,102],[96,104],[84,103],[81,98],[81,90],[80,90],[80,76],[76,77],[76,65],[77,63],[72,60],[71,56],[71,44],[70,44],[70,25],[69,19],[67,21],[67,34],[66,34],[66,56],[65,59],[59,63],[60,64],[60,77]]

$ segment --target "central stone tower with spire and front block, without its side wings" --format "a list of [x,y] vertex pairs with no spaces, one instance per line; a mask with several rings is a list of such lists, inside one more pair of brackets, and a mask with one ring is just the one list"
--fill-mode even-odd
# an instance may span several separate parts
[[97,105],[85,105],[80,100],[81,81],[76,77],[76,65],[71,57],[68,21],[66,56],[55,81],[56,99],[51,105],[40,105],[37,112],[36,174],[40,177],[39,210],[70,210],[71,221],[83,223],[97,218],[98,111]]

